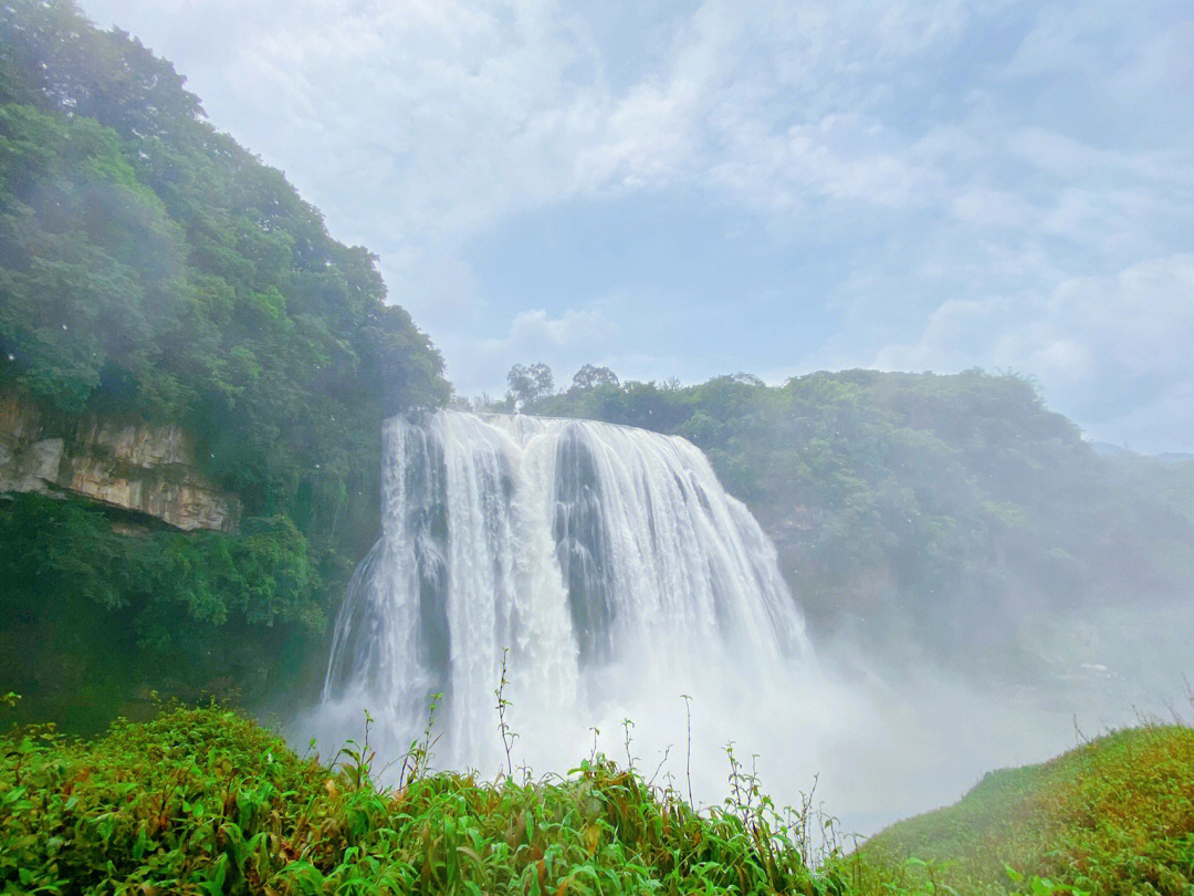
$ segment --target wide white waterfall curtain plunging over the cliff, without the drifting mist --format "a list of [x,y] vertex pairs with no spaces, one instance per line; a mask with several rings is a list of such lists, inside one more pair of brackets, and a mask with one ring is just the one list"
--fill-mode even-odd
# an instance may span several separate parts
[[519,756],[559,768],[627,718],[661,750],[684,736],[684,695],[720,748],[719,718],[765,726],[762,682],[807,668],[774,546],[685,440],[447,411],[383,437],[382,533],[340,608],[319,710],[341,739],[368,708],[378,739],[405,747],[442,694],[437,763],[493,773],[505,662]]

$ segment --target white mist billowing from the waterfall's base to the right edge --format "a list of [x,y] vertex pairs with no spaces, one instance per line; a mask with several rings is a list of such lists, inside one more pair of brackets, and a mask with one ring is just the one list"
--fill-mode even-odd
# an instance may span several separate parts
[[[715,805],[731,794],[728,747],[777,804],[811,806],[832,821],[827,837],[853,846],[956,802],[989,772],[1042,762],[1124,726],[1190,719],[1182,670],[1194,625],[1183,603],[1072,624],[1097,643],[1090,656],[1103,662],[1059,663],[1050,677],[1008,687],[983,688],[931,664],[892,670],[850,645],[814,643],[810,662],[762,675],[749,651],[715,659],[694,651],[700,662],[684,669],[604,668],[586,679],[585,708],[564,717],[537,710],[541,694],[511,688],[511,761],[516,777],[538,778],[604,754]],[[494,668],[494,688],[500,674]],[[285,730],[300,747],[314,737],[320,755],[332,757],[345,739],[361,742],[365,710],[382,716],[375,696],[355,696],[308,708]],[[505,775],[496,714],[474,723],[488,743],[469,756],[453,750],[436,718],[432,768]],[[406,747],[420,735],[414,724],[373,728],[383,781],[398,780]]]

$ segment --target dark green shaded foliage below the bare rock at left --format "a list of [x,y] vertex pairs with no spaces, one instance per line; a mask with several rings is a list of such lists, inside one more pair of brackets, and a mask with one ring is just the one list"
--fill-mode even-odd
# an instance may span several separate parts
[[94,730],[149,685],[260,699],[273,657],[318,642],[326,614],[307,541],[285,517],[181,533],[81,501],[0,501],[0,681],[19,716]]

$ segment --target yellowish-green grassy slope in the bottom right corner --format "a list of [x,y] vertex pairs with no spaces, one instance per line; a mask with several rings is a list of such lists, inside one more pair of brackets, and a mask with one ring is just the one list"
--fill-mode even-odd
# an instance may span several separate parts
[[913,885],[931,871],[964,894],[1017,889],[1005,866],[1098,894],[1194,892],[1194,730],[1128,729],[992,772],[956,805],[888,828],[861,854],[881,879]]

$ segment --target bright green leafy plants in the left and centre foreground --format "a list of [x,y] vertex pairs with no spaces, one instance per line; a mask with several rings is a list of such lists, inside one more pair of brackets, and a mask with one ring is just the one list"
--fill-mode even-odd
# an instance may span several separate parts
[[695,812],[602,757],[487,784],[332,771],[220,710],[118,723],[96,743],[17,730],[0,765],[0,882],[23,892],[845,894],[789,829]]

